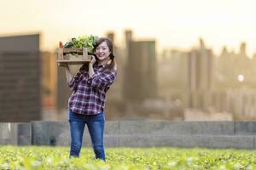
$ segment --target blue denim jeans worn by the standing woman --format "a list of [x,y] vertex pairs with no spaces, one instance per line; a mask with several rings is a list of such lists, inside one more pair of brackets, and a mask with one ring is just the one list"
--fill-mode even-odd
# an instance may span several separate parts
[[90,139],[93,146],[96,159],[106,161],[103,144],[103,133],[105,116],[104,113],[97,115],[80,115],[68,110],[68,122],[71,133],[70,157],[79,157],[83,143],[83,134],[85,124],[90,133]]

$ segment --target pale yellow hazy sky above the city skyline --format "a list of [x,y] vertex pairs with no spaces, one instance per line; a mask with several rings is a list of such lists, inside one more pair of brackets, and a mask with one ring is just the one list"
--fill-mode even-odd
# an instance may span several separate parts
[[0,0],[0,36],[40,32],[41,49],[51,50],[60,40],[106,31],[121,45],[132,29],[137,40],[156,39],[158,49],[188,49],[203,37],[216,54],[245,41],[252,55],[255,7],[255,0]]

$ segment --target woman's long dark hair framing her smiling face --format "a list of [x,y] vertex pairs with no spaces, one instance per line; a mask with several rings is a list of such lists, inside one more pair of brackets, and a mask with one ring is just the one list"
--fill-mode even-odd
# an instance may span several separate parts
[[[111,42],[111,40],[108,37],[101,37],[96,41],[96,44],[94,45],[94,53],[96,48],[102,43],[102,42],[106,42],[110,51],[109,57],[111,59],[111,63],[109,65],[107,65],[104,70],[109,70],[109,71],[113,71],[114,70],[114,66],[116,65],[115,60],[114,60],[114,55],[113,55],[113,42]],[[96,58],[96,63],[97,63],[97,58]]]

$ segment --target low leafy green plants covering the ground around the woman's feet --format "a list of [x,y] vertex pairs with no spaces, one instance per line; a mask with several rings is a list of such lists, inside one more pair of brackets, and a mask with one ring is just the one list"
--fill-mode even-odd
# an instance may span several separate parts
[[239,170],[256,169],[254,150],[207,150],[177,148],[112,148],[107,161],[96,160],[83,148],[79,158],[69,159],[68,147],[0,147],[0,169],[85,170]]

